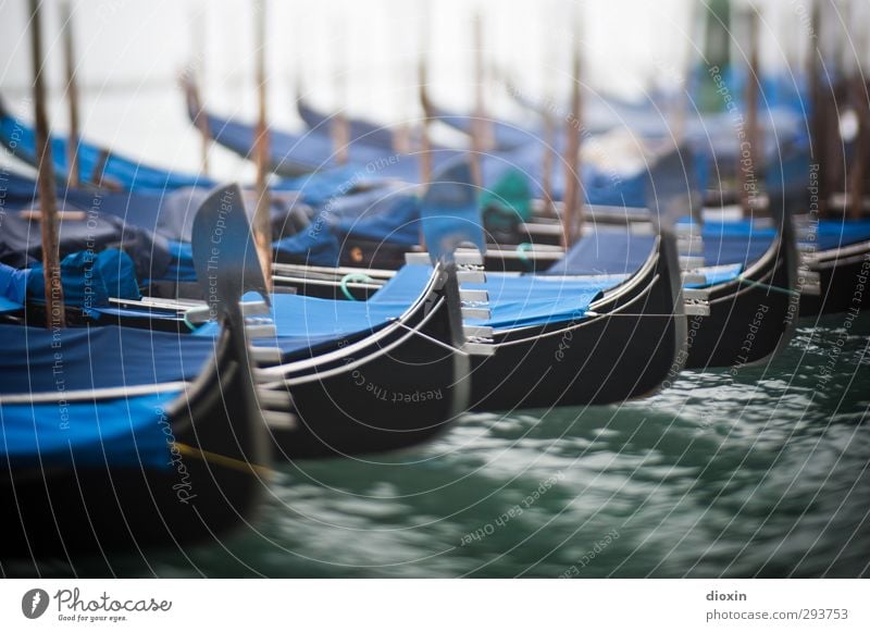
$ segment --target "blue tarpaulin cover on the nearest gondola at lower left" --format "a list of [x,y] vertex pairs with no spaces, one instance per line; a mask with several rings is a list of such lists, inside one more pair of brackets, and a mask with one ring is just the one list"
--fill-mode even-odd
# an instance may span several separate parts
[[0,325],[0,396],[57,394],[57,401],[0,404],[0,450],[16,464],[140,462],[169,467],[165,406],[178,392],[74,401],[74,391],[194,380],[212,338],[116,326],[49,331]]

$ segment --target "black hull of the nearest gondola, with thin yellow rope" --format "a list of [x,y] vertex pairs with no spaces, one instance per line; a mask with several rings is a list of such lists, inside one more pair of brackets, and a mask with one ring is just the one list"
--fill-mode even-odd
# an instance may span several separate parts
[[72,563],[83,555],[219,542],[246,524],[264,485],[249,463],[268,462],[269,453],[240,344],[222,338],[200,380],[164,411],[164,468],[7,463],[0,558]]

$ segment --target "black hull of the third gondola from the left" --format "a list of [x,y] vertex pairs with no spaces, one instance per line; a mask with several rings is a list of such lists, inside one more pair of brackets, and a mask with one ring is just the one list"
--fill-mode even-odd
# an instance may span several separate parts
[[472,409],[613,404],[658,389],[684,359],[678,265],[662,237],[655,265],[594,303],[599,315],[497,334],[496,355],[474,359]]

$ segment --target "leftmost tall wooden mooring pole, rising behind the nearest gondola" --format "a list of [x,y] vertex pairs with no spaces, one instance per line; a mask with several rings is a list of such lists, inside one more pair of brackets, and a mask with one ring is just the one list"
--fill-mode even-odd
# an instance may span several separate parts
[[42,211],[42,270],[45,270],[46,326],[64,326],[66,312],[63,306],[60,246],[58,237],[58,200],[54,191],[54,164],[48,137],[46,116],[46,86],[42,79],[42,18],[41,0],[30,0],[30,52],[34,65],[34,122],[36,127],[36,159],[39,169],[39,207]]

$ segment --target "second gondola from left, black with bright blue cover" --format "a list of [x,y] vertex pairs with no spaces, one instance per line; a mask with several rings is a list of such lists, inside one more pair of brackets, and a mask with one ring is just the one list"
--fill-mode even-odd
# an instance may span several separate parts
[[[467,263],[453,250],[459,243],[482,247],[482,231],[450,212],[424,216],[422,231],[440,246],[431,249],[432,265],[405,267],[369,301],[273,296],[274,338],[258,348],[257,376],[266,406],[294,414],[290,423],[270,424],[281,458],[409,447],[468,409],[471,358],[492,350],[463,327],[459,276]],[[304,325],[291,329],[289,320]]]

